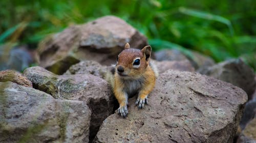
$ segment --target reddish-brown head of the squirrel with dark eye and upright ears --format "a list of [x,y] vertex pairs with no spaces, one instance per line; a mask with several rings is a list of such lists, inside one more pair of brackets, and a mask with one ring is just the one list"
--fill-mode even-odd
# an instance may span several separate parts
[[118,55],[116,73],[123,78],[141,77],[150,63],[151,46],[141,50],[130,48],[126,43],[124,50]]

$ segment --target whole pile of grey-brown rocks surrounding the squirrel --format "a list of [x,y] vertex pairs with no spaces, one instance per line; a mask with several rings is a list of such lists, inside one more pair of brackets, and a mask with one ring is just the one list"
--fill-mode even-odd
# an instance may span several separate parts
[[118,116],[104,74],[126,42],[147,45],[131,25],[105,16],[47,37],[39,66],[1,71],[0,142],[256,141],[255,75],[240,59],[157,51],[149,104],[138,110],[133,97],[128,117]]

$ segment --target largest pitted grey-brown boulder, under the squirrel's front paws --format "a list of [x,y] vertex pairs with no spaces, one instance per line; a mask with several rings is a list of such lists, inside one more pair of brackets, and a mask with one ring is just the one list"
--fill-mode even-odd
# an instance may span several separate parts
[[247,95],[215,78],[168,70],[148,100],[138,110],[130,99],[128,117],[109,116],[94,142],[232,142]]

